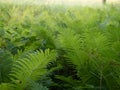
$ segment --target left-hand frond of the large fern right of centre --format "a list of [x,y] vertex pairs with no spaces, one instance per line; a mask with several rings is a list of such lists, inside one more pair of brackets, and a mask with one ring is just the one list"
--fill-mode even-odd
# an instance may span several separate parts
[[81,50],[83,42],[79,34],[76,34],[72,30],[64,30],[60,33],[58,40],[60,48],[67,52],[65,57],[69,58],[68,61],[80,66],[82,59],[85,58],[85,54]]

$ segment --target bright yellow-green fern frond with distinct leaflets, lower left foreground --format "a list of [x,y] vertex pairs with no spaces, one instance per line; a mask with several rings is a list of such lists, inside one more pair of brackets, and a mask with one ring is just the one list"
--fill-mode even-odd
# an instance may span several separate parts
[[37,51],[29,54],[28,58],[16,61],[13,66],[11,76],[12,80],[19,88],[24,89],[29,80],[39,80],[42,75],[47,74],[47,65],[56,58],[56,52],[49,49],[45,52]]

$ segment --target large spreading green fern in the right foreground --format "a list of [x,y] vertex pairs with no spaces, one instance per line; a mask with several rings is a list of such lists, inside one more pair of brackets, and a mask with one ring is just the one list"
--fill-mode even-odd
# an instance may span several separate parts
[[[111,67],[110,62],[115,58],[114,54],[111,53],[110,42],[105,34],[99,31],[85,30],[79,36],[74,31],[66,30],[60,33],[58,40],[59,46],[65,51],[64,56],[67,57],[68,64],[75,65],[77,76],[82,81],[81,87],[89,88],[93,85],[94,88],[100,89],[109,87],[104,86],[111,84],[107,82],[105,76],[110,74],[111,70],[107,68]],[[74,68],[74,66],[71,67]],[[113,73],[115,72],[113,71]],[[112,81],[116,82],[116,80],[114,78]]]

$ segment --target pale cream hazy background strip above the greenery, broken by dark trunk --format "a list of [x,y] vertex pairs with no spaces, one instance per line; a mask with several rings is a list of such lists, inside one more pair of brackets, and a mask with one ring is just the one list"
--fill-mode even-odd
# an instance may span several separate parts
[[[101,5],[102,0],[0,0],[7,3],[60,4],[60,5]],[[120,3],[120,0],[107,0],[107,3]]]

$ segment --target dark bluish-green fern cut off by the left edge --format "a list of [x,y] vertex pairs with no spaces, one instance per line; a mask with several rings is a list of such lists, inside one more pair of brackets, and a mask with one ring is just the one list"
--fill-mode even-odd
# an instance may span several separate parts
[[12,68],[12,55],[10,52],[0,49],[0,83],[9,82],[9,73]]

